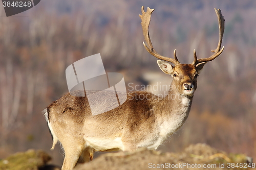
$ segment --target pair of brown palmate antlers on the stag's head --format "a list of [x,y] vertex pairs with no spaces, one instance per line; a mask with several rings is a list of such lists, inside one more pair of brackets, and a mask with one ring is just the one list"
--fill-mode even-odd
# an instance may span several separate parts
[[[142,15],[139,15],[139,16],[141,18],[141,26],[142,26],[142,30],[143,30],[143,35],[144,35],[145,41],[147,43],[147,45],[146,45],[143,42],[143,45],[145,46],[147,52],[150,53],[151,55],[155,56],[156,58],[174,63],[175,65],[180,64],[180,62],[179,62],[179,60],[177,59],[177,56],[176,56],[176,50],[174,50],[174,59],[161,56],[160,54],[158,54],[154,50],[154,47],[153,47],[151,39],[150,39],[150,34],[148,33],[148,27],[150,26],[151,14],[152,14],[153,11],[154,11],[154,9],[150,9],[150,8],[147,7],[147,10],[145,12],[144,7],[143,6],[141,7]],[[208,58],[197,59],[197,54],[196,54],[196,51],[194,50],[194,61],[191,64],[198,65],[200,63],[204,63],[204,62],[214,60],[224,50],[224,46],[221,48],[221,43],[222,43],[222,37],[223,37],[223,33],[224,33],[224,21],[225,21],[225,19],[224,19],[223,15],[221,14],[220,9],[217,10],[215,8],[215,12],[216,12],[217,17],[218,17],[219,30],[220,30],[218,46],[217,46],[216,50],[211,51],[211,52],[214,52],[215,54],[211,55]]]

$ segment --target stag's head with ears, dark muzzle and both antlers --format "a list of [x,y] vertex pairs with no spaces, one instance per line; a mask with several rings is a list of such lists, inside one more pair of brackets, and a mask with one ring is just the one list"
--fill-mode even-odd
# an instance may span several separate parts
[[[176,50],[174,50],[174,59],[168,58],[159,55],[155,49],[153,48],[150,34],[148,33],[148,27],[150,25],[151,14],[154,9],[150,9],[147,7],[146,12],[144,11],[144,7],[142,6],[141,12],[142,15],[139,15],[141,18],[141,26],[143,30],[143,35],[146,41],[146,44],[143,42],[144,47],[146,48],[147,52],[151,55],[155,56],[156,58],[160,59],[157,61],[157,64],[161,68],[161,70],[173,77],[173,82],[171,88],[176,88],[179,94],[187,95],[192,97],[194,95],[195,90],[197,89],[197,77],[200,74],[203,66],[206,62],[214,60],[217,58],[224,50],[224,46],[221,48],[222,37],[224,33],[224,17],[221,14],[220,9],[215,8],[215,12],[218,17],[219,21],[219,43],[216,50],[212,50],[214,54],[208,58],[197,59],[196,51],[194,50],[194,61],[191,64],[181,64],[176,56]],[[167,62],[166,62],[167,61]],[[171,65],[171,62],[174,64]]]

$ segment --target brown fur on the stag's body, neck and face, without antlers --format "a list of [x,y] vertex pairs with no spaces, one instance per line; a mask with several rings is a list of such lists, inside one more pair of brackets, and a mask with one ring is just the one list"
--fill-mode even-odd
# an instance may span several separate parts
[[[95,151],[120,149],[134,151],[140,148],[139,143],[143,145],[143,141],[154,144],[160,140],[153,149],[157,148],[162,140],[184,124],[195,89],[191,95],[185,95],[183,84],[191,83],[196,88],[195,74],[197,71],[196,66],[192,64],[172,66],[172,72],[169,74],[172,76],[177,74],[178,77],[174,78],[169,94],[165,98],[159,99],[156,95],[146,91],[130,92],[127,93],[127,100],[121,106],[94,116],[86,96],[73,96],[68,93],[50,104],[47,107],[47,118],[55,135],[53,138],[57,138],[55,142],[57,140],[61,142],[66,155],[62,169],[72,169],[77,162],[91,160]],[[79,92],[83,91],[77,91],[77,93]],[[101,96],[108,98],[107,91],[102,91],[102,94]],[[189,103],[184,106],[182,99],[173,99],[172,95],[177,98],[187,98]],[[187,109],[184,110],[184,107]],[[182,118],[178,118],[181,115]],[[169,121],[170,124],[176,121],[174,130],[168,132],[162,129],[161,126],[166,121]],[[172,125],[169,126],[168,128],[173,128]],[[164,136],[160,135],[161,131],[164,131]],[[163,139],[159,139],[159,135]],[[102,140],[120,137],[124,148],[97,149],[97,147],[87,145],[88,137],[102,138]]]

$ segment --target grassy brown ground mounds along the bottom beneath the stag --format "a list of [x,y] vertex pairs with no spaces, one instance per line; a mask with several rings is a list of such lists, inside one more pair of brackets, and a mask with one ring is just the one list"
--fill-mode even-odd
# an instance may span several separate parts
[[[44,151],[29,150],[0,160],[0,170],[58,170],[48,165],[51,157]],[[180,153],[164,153],[140,149],[134,153],[117,152],[102,154],[92,162],[78,164],[74,170],[83,169],[247,169],[255,167],[252,158],[211,148],[204,143],[193,144]]]

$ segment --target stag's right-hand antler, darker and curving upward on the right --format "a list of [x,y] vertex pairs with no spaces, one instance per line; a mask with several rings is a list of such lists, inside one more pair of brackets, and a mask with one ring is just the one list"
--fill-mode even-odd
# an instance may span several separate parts
[[211,55],[208,58],[197,59],[197,54],[196,54],[196,51],[194,50],[194,61],[192,63],[194,65],[198,65],[198,64],[203,63],[203,62],[208,62],[208,61],[214,60],[224,50],[224,46],[221,48],[221,43],[222,43],[222,37],[223,37],[223,34],[224,34],[224,22],[225,22],[225,19],[224,19],[223,15],[221,14],[221,10],[220,9],[217,10],[215,8],[215,12],[216,12],[217,17],[218,17],[219,30],[220,30],[218,46],[217,46],[217,48],[215,50],[211,50],[211,52],[214,53],[214,54]]

